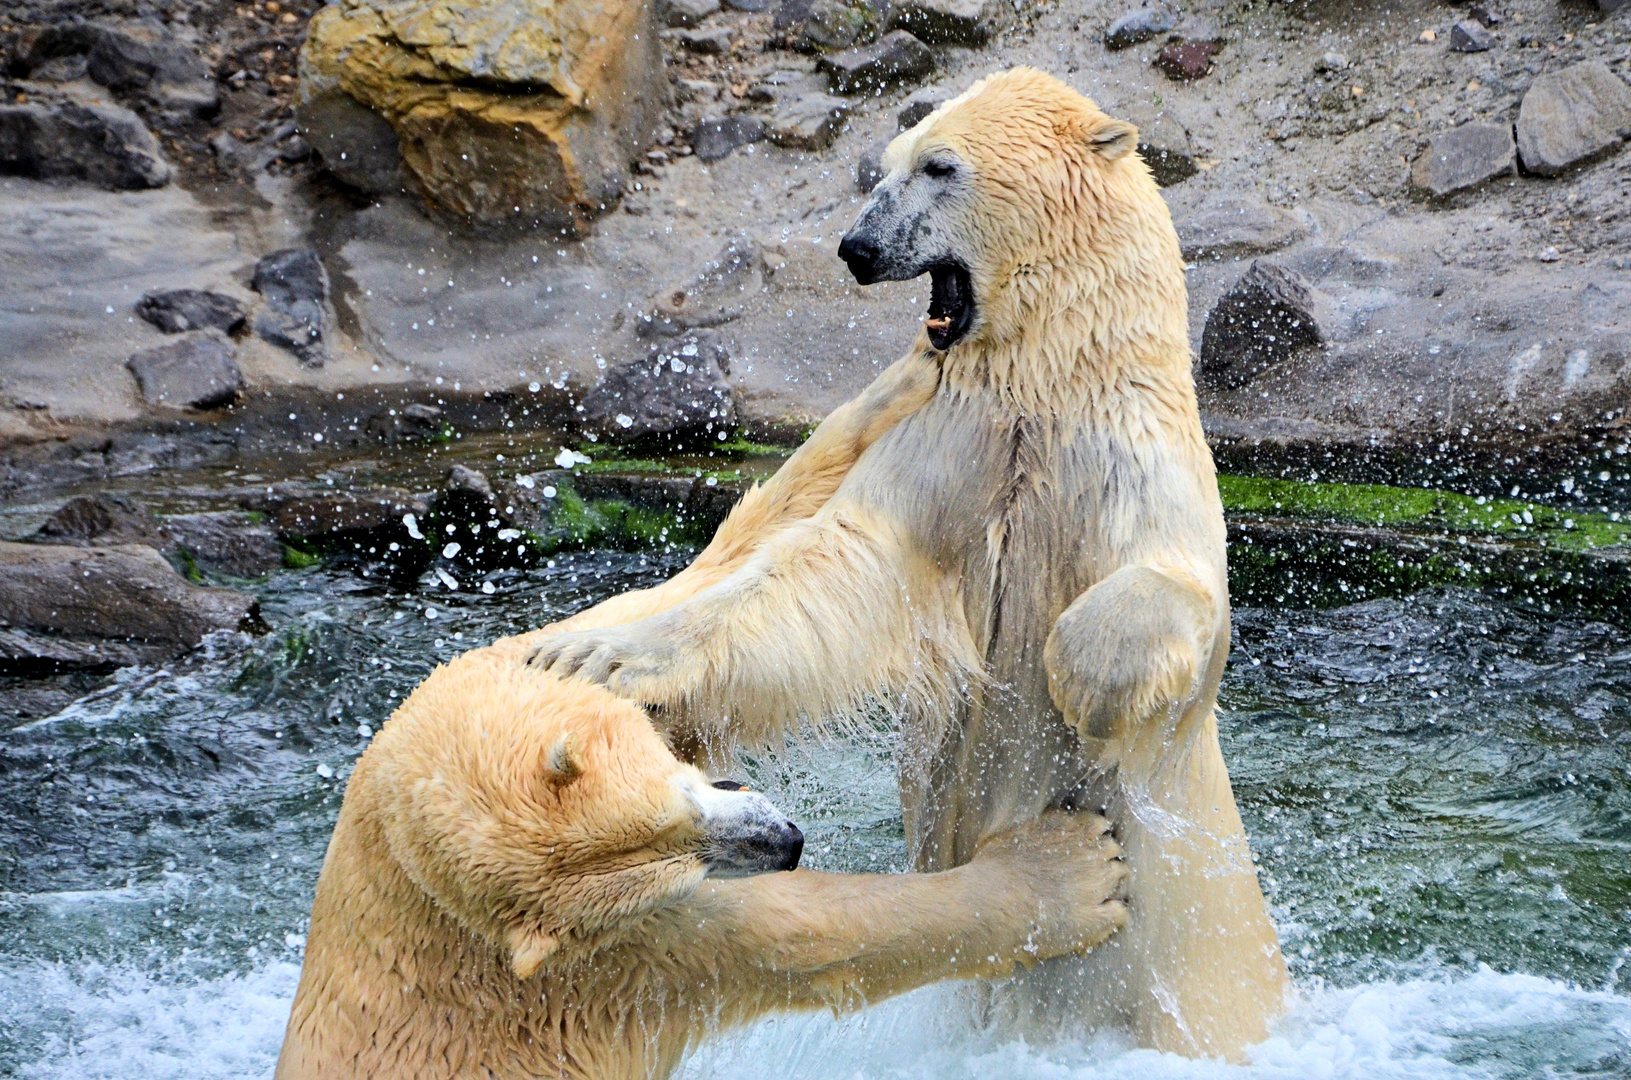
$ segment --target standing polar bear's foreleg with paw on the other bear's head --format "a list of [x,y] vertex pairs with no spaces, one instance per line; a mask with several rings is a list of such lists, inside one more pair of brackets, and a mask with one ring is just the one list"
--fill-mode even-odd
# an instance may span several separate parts
[[532,662],[732,744],[873,697],[944,705],[979,671],[954,582],[891,520],[842,501],[683,604],[545,638]]

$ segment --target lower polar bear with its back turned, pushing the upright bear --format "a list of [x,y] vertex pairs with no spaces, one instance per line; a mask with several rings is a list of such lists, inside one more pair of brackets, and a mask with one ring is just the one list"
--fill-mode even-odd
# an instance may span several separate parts
[[[687,571],[574,625],[662,610],[814,512],[933,392],[908,359],[838,409]],[[528,667],[535,636],[431,674],[357,762],[318,878],[277,1080],[652,1080],[709,1031],[1005,976],[1125,922],[1091,814],[928,874],[771,873],[802,839],[674,757],[646,713]]]

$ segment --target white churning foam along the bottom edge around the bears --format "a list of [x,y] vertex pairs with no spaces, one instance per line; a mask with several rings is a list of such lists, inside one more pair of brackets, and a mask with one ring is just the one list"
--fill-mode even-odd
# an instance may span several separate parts
[[[297,979],[290,963],[191,982],[135,967],[3,964],[0,1028],[21,1033],[29,1047],[8,1064],[24,1080],[266,1080]],[[1514,1047],[1523,1060],[1509,1057]],[[1481,969],[1306,992],[1248,1065],[1186,1060],[1116,1039],[1003,1042],[974,1031],[956,987],[930,987],[845,1018],[762,1021],[701,1047],[678,1077],[1484,1080],[1572,1072],[1582,1054],[1602,1060],[1616,1051],[1631,1057],[1631,998]]]

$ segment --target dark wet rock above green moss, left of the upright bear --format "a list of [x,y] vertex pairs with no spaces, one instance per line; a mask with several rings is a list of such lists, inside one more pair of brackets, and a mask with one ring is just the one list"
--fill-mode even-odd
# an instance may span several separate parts
[[731,354],[706,330],[652,346],[584,395],[584,426],[608,442],[713,442],[736,421],[729,370]]

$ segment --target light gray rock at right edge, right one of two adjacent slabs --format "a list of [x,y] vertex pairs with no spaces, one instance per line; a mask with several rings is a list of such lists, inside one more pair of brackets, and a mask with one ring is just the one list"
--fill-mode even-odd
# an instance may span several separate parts
[[1600,60],[1541,75],[1523,95],[1517,132],[1523,168],[1556,176],[1631,135],[1631,86]]

